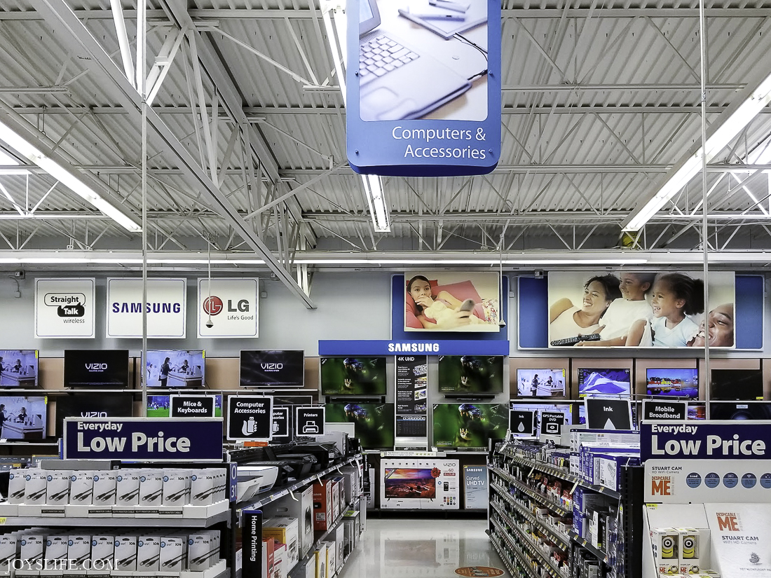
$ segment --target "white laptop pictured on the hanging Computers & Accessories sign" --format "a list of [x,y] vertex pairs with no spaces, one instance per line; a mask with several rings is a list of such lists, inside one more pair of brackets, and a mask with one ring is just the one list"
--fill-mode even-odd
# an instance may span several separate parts
[[414,46],[378,30],[377,0],[359,0],[359,116],[418,119],[471,88],[471,83]]

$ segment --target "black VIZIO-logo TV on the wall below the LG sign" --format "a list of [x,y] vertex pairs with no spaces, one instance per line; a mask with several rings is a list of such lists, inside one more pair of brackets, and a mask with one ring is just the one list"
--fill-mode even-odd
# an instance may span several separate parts
[[304,382],[305,351],[241,351],[242,388],[301,388]]

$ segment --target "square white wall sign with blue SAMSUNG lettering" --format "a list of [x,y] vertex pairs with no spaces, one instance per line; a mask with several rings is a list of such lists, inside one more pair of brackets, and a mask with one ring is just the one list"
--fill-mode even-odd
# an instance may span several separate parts
[[[184,338],[187,279],[147,280],[147,337]],[[107,337],[142,337],[142,280],[107,279]]]

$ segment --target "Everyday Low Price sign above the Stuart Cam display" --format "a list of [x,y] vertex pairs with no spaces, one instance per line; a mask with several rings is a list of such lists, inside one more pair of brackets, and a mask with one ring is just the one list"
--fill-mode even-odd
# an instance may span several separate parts
[[769,459],[771,422],[643,422],[641,459]]

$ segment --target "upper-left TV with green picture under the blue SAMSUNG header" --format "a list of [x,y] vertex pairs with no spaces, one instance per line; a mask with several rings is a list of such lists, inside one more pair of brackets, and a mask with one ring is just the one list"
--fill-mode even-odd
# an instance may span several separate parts
[[322,395],[385,395],[384,357],[321,359]]

